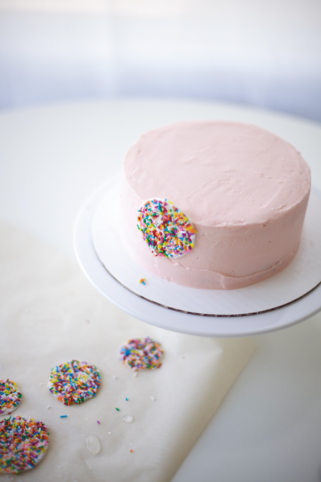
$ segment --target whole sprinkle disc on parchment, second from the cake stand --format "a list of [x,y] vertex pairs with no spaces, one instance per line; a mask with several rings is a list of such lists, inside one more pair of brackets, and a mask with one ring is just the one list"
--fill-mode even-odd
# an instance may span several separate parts
[[100,385],[95,365],[78,360],[62,363],[50,373],[50,392],[65,405],[81,403],[95,396]]

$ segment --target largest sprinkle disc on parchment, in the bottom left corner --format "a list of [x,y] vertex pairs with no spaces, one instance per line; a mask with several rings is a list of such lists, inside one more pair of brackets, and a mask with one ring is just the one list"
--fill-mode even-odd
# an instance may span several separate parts
[[0,474],[33,469],[48,448],[47,427],[24,417],[0,421]]

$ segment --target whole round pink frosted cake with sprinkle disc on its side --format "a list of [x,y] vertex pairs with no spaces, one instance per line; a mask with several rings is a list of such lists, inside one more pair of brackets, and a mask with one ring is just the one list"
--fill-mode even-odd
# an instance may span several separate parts
[[[309,193],[308,165],[274,134],[236,122],[179,122],[143,135],[125,156],[124,242],[161,278],[196,288],[240,288],[290,263]],[[187,229],[175,229],[177,212],[169,202]],[[148,211],[154,218],[146,218]],[[168,219],[173,222],[164,228]],[[168,233],[182,246],[177,236],[183,229],[187,244],[169,251]]]

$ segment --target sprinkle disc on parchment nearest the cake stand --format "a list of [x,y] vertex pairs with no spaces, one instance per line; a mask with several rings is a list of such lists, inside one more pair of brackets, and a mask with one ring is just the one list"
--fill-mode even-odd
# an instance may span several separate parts
[[122,345],[119,349],[119,357],[123,363],[132,370],[143,370],[145,368],[154,370],[160,368],[160,358],[163,354],[160,343],[146,338],[133,338]]

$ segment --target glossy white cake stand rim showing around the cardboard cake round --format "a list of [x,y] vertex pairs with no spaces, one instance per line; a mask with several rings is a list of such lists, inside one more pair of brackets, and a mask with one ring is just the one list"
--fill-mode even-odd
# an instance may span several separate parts
[[[278,309],[248,316],[201,316],[160,306],[121,284],[99,259],[92,238],[97,206],[111,182],[84,204],[74,229],[74,248],[84,273],[95,288],[116,306],[146,323],[199,336],[231,337],[268,333],[304,321],[321,311],[321,284],[300,299]],[[262,288],[263,289],[263,288]],[[244,310],[246,312],[246,310]],[[244,311],[240,311],[243,312]]]

